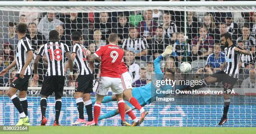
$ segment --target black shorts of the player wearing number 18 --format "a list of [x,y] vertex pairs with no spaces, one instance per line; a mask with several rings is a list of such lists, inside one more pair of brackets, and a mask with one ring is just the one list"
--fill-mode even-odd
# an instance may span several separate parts
[[45,96],[52,95],[54,92],[55,97],[63,96],[64,89],[64,76],[46,76],[44,77],[41,94]]

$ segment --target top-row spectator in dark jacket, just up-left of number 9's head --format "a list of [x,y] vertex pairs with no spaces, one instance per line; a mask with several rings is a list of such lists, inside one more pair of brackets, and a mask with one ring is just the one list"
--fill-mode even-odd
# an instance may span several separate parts
[[108,12],[100,12],[100,19],[95,20],[94,28],[102,33],[102,40],[106,40],[111,33],[112,23]]

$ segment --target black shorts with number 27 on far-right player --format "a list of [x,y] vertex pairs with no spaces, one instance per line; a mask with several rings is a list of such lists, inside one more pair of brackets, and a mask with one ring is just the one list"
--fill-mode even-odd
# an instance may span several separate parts
[[229,76],[223,70],[216,72],[215,74],[212,74],[212,77],[217,78],[217,82],[223,83],[224,92],[227,92],[227,90],[231,91],[234,87],[234,84],[236,84],[237,81],[237,78]]

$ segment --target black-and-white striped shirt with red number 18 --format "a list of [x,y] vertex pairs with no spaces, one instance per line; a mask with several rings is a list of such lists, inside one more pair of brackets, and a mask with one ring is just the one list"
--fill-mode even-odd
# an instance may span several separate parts
[[46,55],[48,69],[46,76],[65,76],[64,75],[64,55],[69,51],[69,47],[61,42],[48,42],[41,46],[37,55]]

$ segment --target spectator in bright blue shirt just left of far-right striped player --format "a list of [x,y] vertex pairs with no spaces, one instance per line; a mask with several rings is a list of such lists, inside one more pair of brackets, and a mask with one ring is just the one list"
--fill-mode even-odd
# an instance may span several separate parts
[[206,65],[214,68],[215,71],[220,71],[220,66],[225,62],[225,53],[221,52],[220,44],[216,43],[214,45],[213,52],[207,57]]

